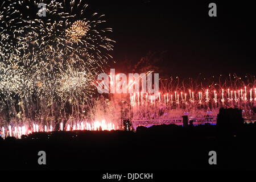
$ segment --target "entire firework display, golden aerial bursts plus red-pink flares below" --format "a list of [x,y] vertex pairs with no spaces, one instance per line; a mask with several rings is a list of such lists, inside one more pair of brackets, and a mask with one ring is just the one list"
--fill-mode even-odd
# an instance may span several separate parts
[[[40,3],[46,7],[39,10]],[[245,119],[255,120],[254,76],[160,79],[157,99],[142,92],[96,96],[96,78],[111,57],[114,41],[106,34],[111,28],[98,26],[105,22],[102,15],[88,16],[87,7],[76,0],[0,4],[1,137],[53,130],[118,130],[122,112],[134,129],[180,123],[183,115],[214,122],[220,107],[242,109]],[[46,16],[39,16],[43,11]]]

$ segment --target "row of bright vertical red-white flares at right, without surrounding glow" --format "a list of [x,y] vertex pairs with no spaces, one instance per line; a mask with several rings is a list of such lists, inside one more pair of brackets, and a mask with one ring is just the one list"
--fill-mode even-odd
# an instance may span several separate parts
[[[256,88],[247,88],[246,86],[241,89],[204,89],[191,90],[187,89],[187,92],[159,92],[157,102],[160,104],[209,104],[210,101],[214,101],[216,104],[222,104],[224,107],[232,105],[237,102],[250,102],[254,106],[256,101]],[[171,97],[170,97],[171,96]],[[151,94],[148,93],[131,93],[130,100],[131,105],[152,104]],[[156,101],[154,101],[155,103]],[[204,103],[203,103],[204,102]],[[234,102],[234,103],[233,103]],[[226,105],[225,105],[226,104]]]

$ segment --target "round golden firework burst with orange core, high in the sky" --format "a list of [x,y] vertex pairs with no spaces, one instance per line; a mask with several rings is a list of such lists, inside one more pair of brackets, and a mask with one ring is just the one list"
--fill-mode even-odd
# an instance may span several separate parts
[[[111,29],[97,30],[98,24],[104,21],[85,19],[85,9],[79,8],[82,5],[76,6],[77,2],[67,4],[51,1],[47,5],[47,19],[38,18],[26,26],[26,40],[30,42],[21,44],[28,51],[25,61],[32,62],[28,65],[34,65],[36,69],[48,66],[52,70],[56,66],[65,68],[65,64],[71,63],[84,64],[86,67],[90,65],[92,68],[106,63],[108,55],[105,52],[112,50],[113,41],[101,34]],[[83,11],[81,16],[73,14],[76,9],[76,14]],[[85,55],[86,60],[79,55]],[[69,61],[66,63],[66,60]]]

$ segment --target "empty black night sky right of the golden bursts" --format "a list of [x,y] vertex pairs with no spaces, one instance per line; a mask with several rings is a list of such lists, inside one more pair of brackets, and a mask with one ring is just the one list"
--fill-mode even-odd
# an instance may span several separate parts
[[[127,70],[148,52],[162,53],[163,75],[255,75],[255,3],[241,1],[86,1],[113,28],[111,68]],[[208,5],[217,5],[209,17]],[[108,68],[110,69],[110,68]],[[160,72],[160,77],[161,77]]]

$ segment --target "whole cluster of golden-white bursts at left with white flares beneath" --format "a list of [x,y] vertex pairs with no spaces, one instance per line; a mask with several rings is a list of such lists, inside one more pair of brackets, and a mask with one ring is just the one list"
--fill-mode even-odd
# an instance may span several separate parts
[[[2,136],[6,126],[16,137],[19,131],[37,131],[36,126],[53,130],[60,124],[57,118],[82,113],[81,105],[90,101],[92,82],[108,62],[114,41],[106,36],[112,29],[99,26],[105,22],[102,15],[88,15],[87,7],[76,0],[1,2]],[[100,126],[113,128],[105,127],[104,119],[90,128]]]

